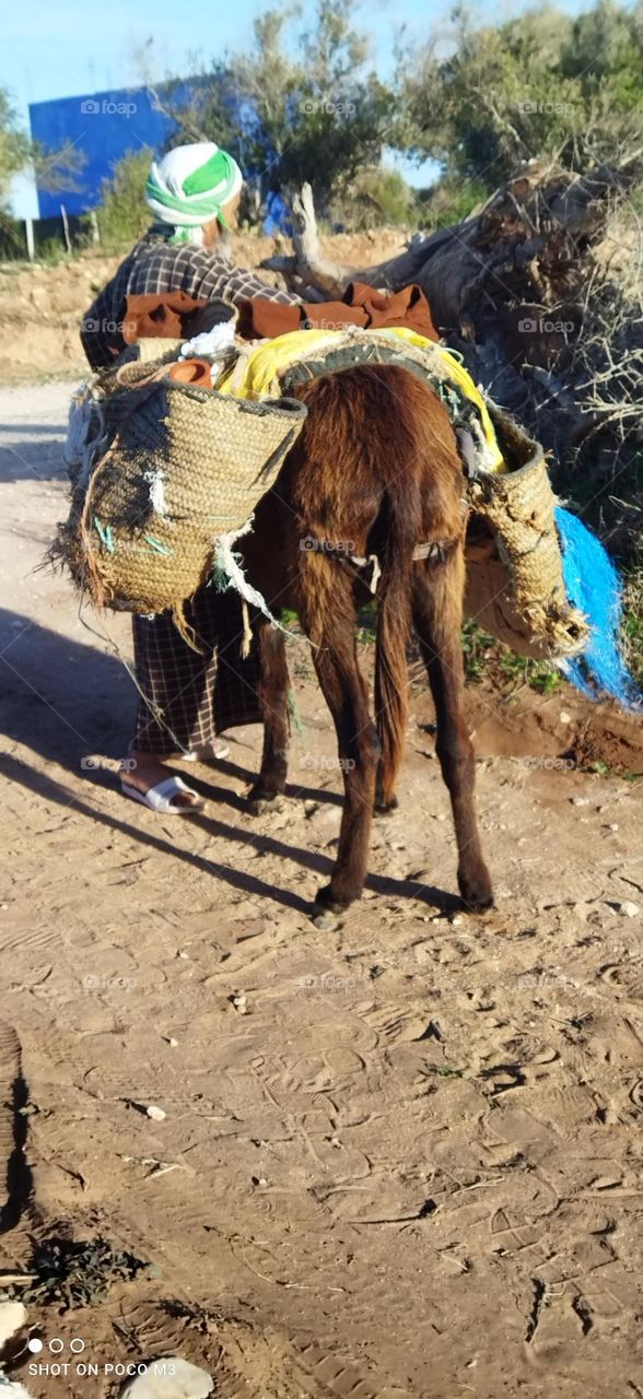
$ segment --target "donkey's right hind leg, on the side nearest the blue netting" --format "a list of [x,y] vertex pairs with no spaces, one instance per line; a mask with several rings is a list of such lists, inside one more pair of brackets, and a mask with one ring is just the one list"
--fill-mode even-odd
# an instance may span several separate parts
[[444,782],[458,845],[458,887],[471,912],[493,904],[489,870],[485,865],[473,806],[473,746],[464,719],[462,546],[445,562],[416,565],[413,572],[413,624],[429,673],[436,705],[437,740]]

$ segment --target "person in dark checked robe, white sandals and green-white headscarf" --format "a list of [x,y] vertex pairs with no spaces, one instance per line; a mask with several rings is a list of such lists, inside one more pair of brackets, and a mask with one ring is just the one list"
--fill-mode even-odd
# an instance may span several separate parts
[[[132,341],[132,308],[143,306],[148,313],[157,298],[168,298],[177,315],[259,295],[294,301],[227,260],[226,241],[237,227],[241,187],[237,161],[214,141],[179,145],[153,161],[146,200],[155,222],[83,318],[81,341],[92,369],[113,364]],[[167,313],[167,305],[161,309]],[[256,659],[254,652],[240,658],[237,595],[203,588],[186,603],[185,614],[202,653],[188,646],[170,613],[133,617],[141,698],[122,782],[127,796],[164,813],[200,804],[182,778],[168,774],[164,760],[226,757],[228,750],[217,734],[262,719]]]

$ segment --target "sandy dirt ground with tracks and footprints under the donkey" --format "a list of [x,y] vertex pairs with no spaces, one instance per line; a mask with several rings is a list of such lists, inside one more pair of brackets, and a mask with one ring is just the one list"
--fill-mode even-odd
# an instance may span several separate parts
[[[64,513],[67,393],[0,395],[0,1267],[102,1234],[160,1276],[31,1305],[38,1364],[70,1370],[29,1378],[22,1350],[15,1377],[113,1393],[74,1371],[80,1337],[98,1367],[178,1347],[226,1399],[643,1395],[633,722],[566,688],[471,693],[497,911],[465,918],[415,673],[401,810],[363,902],[318,932],[340,783],[304,644],[282,811],[244,806],[256,729],[193,774],[202,814],[119,795],[132,683],[32,572]],[[129,653],[123,620],[87,620]]]

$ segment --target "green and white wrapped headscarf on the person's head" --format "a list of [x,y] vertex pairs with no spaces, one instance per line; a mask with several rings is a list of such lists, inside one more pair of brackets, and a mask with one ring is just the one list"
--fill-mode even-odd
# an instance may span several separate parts
[[237,161],[214,141],[177,145],[154,161],[147,176],[146,199],[157,218],[174,224],[172,243],[200,242],[200,229],[219,218],[238,194],[244,176]]

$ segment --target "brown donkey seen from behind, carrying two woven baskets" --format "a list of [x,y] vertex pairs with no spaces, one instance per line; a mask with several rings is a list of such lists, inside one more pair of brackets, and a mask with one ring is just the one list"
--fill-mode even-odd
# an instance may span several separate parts
[[[493,894],[473,811],[475,760],[462,716],[465,483],[447,411],[423,381],[395,365],[329,374],[297,396],[308,407],[304,429],[256,511],[242,554],[249,582],[273,613],[298,613],[338,733],[345,783],[339,849],[314,915],[342,912],[360,897],[373,810],[396,804],[412,627],[436,705],[459,893],[466,908],[489,908]],[[415,561],[417,546],[427,546],[426,557]],[[356,652],[357,607],[370,593],[349,557],[373,554],[381,567],[375,723]],[[283,634],[261,616],[252,624],[265,715],[261,775],[251,792],[258,811],[286,788],[289,673]]]

